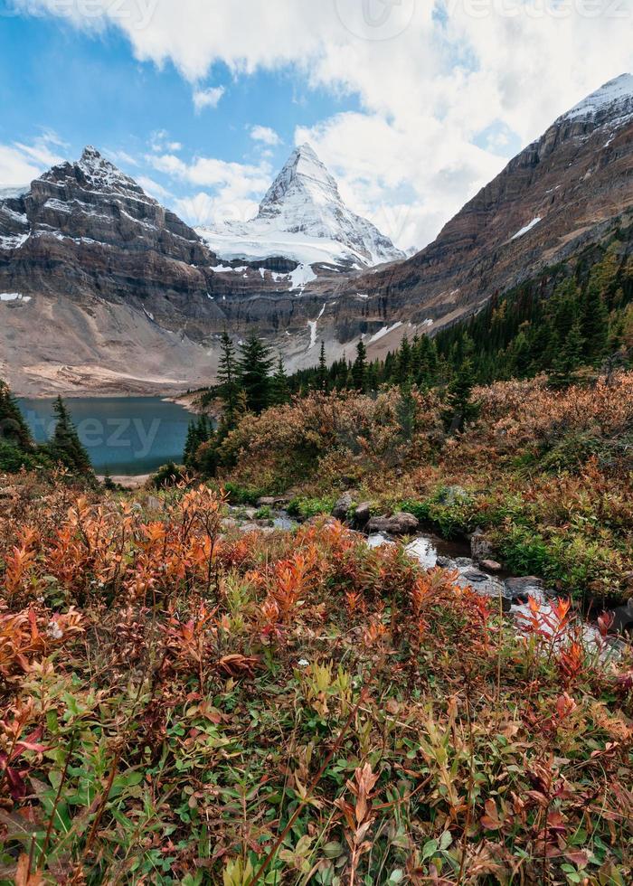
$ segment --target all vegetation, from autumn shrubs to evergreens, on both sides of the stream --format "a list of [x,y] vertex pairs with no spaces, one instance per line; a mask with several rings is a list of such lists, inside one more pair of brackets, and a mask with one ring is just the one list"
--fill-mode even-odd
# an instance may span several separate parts
[[0,384],[2,886],[633,882],[632,241],[384,363],[224,335],[219,423],[133,493]]

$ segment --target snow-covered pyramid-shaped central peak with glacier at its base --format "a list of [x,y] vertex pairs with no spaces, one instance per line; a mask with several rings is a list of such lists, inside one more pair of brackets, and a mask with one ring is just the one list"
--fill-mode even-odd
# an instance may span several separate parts
[[371,221],[345,206],[335,179],[309,145],[293,151],[256,218],[197,232],[224,260],[281,256],[306,266],[362,269],[404,258]]

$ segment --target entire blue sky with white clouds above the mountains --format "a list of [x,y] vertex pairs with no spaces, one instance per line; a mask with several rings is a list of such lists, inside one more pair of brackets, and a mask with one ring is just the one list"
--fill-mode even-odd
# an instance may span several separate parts
[[186,221],[240,220],[307,140],[356,212],[419,247],[631,70],[633,0],[474,2],[0,0],[0,187],[93,144]]

